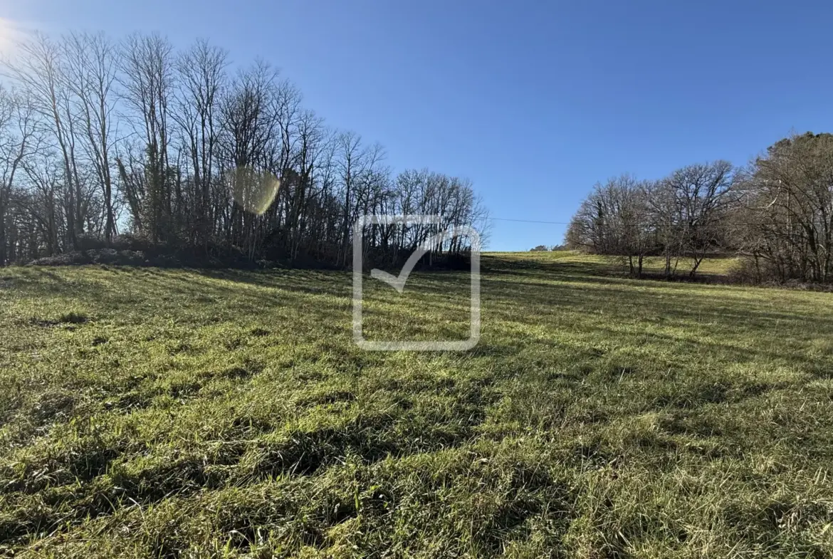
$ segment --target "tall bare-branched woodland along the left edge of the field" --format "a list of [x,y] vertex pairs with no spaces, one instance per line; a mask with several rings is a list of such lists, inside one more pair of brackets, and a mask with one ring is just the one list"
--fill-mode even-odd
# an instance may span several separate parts
[[[470,182],[394,174],[381,146],[327,127],[267,62],[86,33],[35,35],[3,61],[0,266],[115,247],[346,267],[369,213],[442,217],[368,228],[367,254],[392,263],[437,230],[486,225]],[[431,256],[470,244],[446,238]]]

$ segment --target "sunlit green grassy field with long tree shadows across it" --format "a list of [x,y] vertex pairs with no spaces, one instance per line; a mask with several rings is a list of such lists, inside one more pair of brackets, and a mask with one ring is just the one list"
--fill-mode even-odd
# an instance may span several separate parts
[[0,270],[0,557],[833,555],[833,295],[483,267]]

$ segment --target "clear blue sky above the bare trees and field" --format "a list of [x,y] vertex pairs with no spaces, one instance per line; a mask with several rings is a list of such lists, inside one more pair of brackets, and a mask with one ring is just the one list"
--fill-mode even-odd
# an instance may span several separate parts
[[[470,178],[494,217],[567,222],[606,177],[833,131],[831,2],[0,0],[0,17],[262,57],[394,169]],[[490,248],[564,229],[496,221]]]

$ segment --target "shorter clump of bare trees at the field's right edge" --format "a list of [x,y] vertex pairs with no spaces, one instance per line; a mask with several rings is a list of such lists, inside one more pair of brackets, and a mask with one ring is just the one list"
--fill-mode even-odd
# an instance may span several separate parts
[[786,137],[746,165],[689,165],[659,180],[596,184],[572,217],[573,249],[621,257],[642,276],[661,256],[675,276],[710,255],[737,255],[755,282],[833,281],[833,135]]

